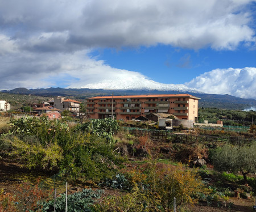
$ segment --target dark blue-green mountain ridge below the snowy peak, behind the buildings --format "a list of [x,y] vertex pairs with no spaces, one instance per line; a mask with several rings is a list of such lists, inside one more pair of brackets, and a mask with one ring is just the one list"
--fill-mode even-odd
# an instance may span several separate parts
[[250,107],[256,108],[255,99],[243,99],[231,95],[218,94],[201,94],[194,92],[180,92],[176,90],[159,91],[159,90],[103,90],[103,89],[89,89],[89,88],[15,88],[7,91],[10,94],[23,95],[37,95],[37,96],[66,96],[74,97],[76,99],[86,99],[92,96],[106,96],[112,95],[149,95],[149,94],[190,94],[201,98],[199,107],[217,107],[222,109],[247,109]]

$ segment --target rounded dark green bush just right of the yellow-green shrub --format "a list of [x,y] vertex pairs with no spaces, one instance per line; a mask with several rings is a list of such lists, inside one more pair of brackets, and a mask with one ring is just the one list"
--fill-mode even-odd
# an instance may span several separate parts
[[94,179],[115,175],[115,168],[123,162],[123,158],[113,146],[95,135],[80,134],[64,147],[61,170],[73,179]]

